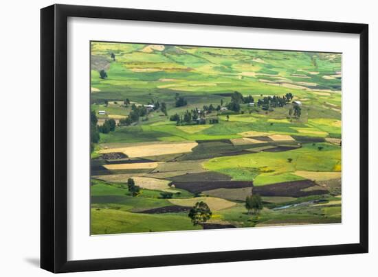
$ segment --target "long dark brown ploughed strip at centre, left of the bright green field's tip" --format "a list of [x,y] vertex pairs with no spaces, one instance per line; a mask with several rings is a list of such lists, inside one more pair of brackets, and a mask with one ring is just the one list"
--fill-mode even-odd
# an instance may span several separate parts
[[178,189],[185,189],[191,193],[210,191],[212,189],[239,189],[252,187],[251,181],[194,181],[194,182],[173,182]]

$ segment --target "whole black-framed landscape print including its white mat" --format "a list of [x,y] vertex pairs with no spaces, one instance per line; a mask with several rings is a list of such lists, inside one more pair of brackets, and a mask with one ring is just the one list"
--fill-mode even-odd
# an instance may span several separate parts
[[41,267],[368,252],[368,25],[41,10]]

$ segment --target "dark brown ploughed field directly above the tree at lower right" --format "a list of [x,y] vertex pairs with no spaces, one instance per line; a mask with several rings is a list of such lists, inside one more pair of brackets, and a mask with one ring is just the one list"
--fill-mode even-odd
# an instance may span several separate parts
[[311,186],[316,186],[316,183],[311,180],[281,182],[277,184],[267,184],[265,186],[254,186],[253,193],[258,193],[261,196],[303,197],[307,195],[321,195],[329,192],[326,189],[303,191],[303,189],[307,189]]

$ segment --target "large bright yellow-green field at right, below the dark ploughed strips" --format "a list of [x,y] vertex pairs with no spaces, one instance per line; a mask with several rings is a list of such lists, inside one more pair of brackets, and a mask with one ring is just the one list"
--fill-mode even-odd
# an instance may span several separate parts
[[[323,147],[321,150],[318,147]],[[292,161],[289,162],[288,159]],[[243,172],[249,169],[254,178],[254,185],[274,184],[302,180],[295,171],[334,171],[341,163],[340,147],[329,143],[305,144],[302,148],[287,152],[259,152],[241,156],[213,158],[203,163],[205,169],[230,175],[233,180],[245,180]]]

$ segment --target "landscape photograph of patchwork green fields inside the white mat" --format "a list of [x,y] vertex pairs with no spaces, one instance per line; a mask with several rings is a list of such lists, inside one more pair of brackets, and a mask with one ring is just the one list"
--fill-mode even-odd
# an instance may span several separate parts
[[91,43],[91,234],[341,222],[341,54]]

